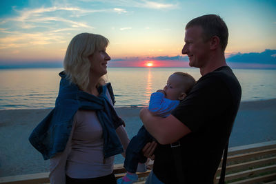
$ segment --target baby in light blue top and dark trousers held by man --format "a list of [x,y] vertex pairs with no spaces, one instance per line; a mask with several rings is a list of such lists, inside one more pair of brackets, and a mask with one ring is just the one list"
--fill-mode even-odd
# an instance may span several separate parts
[[[163,90],[157,90],[150,96],[148,110],[156,116],[166,117],[174,110],[195,85],[195,79],[190,74],[175,72],[168,78]],[[127,174],[117,180],[117,184],[134,183],[138,180],[136,172],[146,172],[145,163],[147,158],[141,153],[146,143],[154,138],[142,126],[134,136],[126,149],[124,167]],[[138,167],[138,168],[137,168]]]

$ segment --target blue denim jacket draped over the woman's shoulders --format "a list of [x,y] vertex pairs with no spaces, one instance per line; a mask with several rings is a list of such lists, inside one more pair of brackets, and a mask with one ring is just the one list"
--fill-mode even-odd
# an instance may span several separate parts
[[113,104],[114,94],[110,83],[98,88],[99,96],[94,96],[79,90],[77,85],[66,79],[65,72],[59,74],[61,81],[59,95],[55,108],[46,116],[30,134],[30,143],[43,155],[43,159],[50,159],[59,152],[63,152],[68,142],[73,117],[77,110],[94,110],[103,129],[103,155],[105,158],[124,152],[116,134],[116,128],[123,125],[123,121],[109,103],[106,90],[110,93]]

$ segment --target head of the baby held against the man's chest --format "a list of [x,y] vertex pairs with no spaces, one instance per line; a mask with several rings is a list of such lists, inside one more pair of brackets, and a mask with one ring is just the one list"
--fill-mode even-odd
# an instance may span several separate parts
[[165,98],[170,100],[183,100],[195,85],[195,79],[190,74],[175,72],[168,78],[164,87]]

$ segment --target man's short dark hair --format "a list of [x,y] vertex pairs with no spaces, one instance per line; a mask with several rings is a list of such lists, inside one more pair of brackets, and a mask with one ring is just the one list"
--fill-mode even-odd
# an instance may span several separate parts
[[208,41],[211,37],[219,37],[221,50],[225,50],[228,43],[228,28],[224,20],[217,14],[206,14],[189,21],[186,25],[186,30],[195,25],[198,25],[203,30],[203,39]]

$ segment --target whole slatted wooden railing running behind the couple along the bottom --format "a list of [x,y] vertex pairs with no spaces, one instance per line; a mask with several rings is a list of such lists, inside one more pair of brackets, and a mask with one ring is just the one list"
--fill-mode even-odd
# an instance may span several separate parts
[[[120,178],[126,174],[123,164],[114,165],[114,172],[116,178]],[[220,172],[221,167],[217,170],[214,183],[218,183]],[[147,177],[149,173],[150,170],[137,173],[140,178],[139,180]],[[48,175],[48,172],[43,172],[38,174],[6,176],[0,178],[0,183],[50,183]],[[139,181],[138,183],[144,182]],[[230,147],[226,167],[226,183],[250,184],[264,182],[276,184],[276,141]]]

